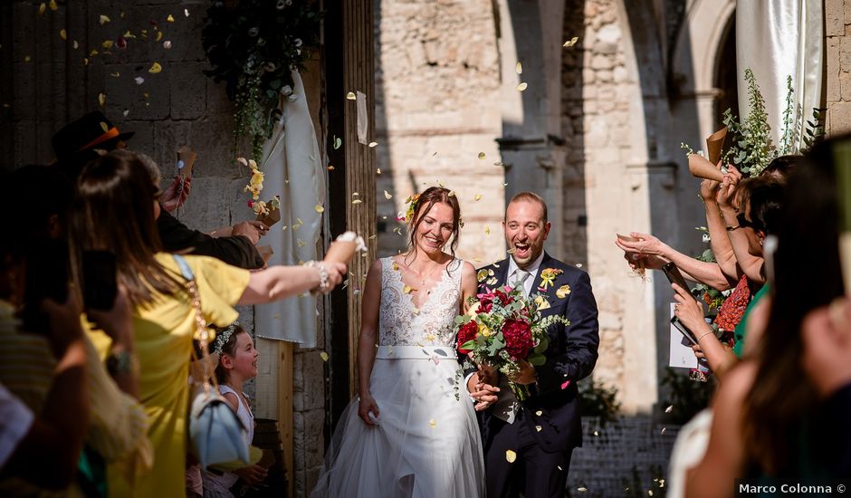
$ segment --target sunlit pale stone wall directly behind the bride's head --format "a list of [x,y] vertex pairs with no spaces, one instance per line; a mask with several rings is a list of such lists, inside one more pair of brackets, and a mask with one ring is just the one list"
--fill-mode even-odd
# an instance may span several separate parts
[[504,254],[492,2],[377,2],[378,255],[406,247],[406,226],[394,221],[406,197],[443,185],[464,217],[459,257],[491,263]]

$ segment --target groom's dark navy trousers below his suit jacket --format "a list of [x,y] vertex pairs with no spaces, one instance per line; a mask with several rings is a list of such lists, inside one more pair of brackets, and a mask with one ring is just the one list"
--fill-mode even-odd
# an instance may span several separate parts
[[[523,410],[513,424],[492,417],[490,444],[484,455],[488,498],[508,498],[523,492],[526,498],[564,498],[573,449],[546,452],[531,431]],[[513,463],[508,450],[517,457]]]

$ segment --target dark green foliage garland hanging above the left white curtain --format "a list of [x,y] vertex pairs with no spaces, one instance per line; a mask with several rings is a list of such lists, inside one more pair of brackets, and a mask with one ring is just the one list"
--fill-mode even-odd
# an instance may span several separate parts
[[212,67],[204,73],[225,81],[236,104],[234,157],[248,137],[259,163],[279,101],[292,93],[292,70],[303,70],[319,45],[321,14],[310,0],[216,0],[206,14],[201,40]]

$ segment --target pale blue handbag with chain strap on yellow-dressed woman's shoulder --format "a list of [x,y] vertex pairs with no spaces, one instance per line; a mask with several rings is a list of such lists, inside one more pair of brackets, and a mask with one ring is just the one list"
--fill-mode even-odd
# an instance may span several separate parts
[[[186,259],[174,254],[180,273],[186,279],[186,287],[195,309],[196,340],[202,351],[203,366],[202,387],[197,389],[189,410],[189,441],[202,468],[208,465],[225,464],[240,461],[245,465],[249,462],[248,431],[245,429],[234,410],[227,404],[225,397],[219,393],[218,383],[212,375],[212,359],[207,345],[210,342],[210,330],[201,313],[201,295],[195,275]],[[197,359],[197,353],[193,353]],[[212,381],[211,381],[212,380]]]

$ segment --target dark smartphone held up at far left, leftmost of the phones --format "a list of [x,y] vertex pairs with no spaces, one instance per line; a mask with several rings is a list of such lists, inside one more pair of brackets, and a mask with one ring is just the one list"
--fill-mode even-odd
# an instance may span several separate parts
[[49,331],[50,322],[41,311],[42,302],[51,299],[62,303],[68,299],[68,266],[68,244],[64,241],[48,239],[27,252],[24,305],[21,311],[24,330],[37,333]]

